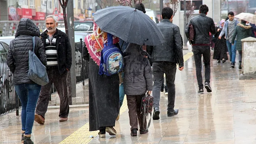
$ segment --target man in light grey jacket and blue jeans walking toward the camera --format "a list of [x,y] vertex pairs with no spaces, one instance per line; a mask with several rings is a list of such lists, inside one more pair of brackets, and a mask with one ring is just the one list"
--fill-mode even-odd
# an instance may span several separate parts
[[227,49],[229,50],[229,56],[230,56],[230,61],[231,65],[230,67],[234,68],[235,67],[235,56],[236,56],[236,39],[234,41],[234,45],[231,44],[232,42],[232,35],[235,32],[235,27],[238,24],[238,20],[234,19],[234,13],[229,12],[229,20],[227,20],[224,23],[223,30],[221,31],[221,34],[219,34],[219,39],[225,34],[226,40],[227,40]]

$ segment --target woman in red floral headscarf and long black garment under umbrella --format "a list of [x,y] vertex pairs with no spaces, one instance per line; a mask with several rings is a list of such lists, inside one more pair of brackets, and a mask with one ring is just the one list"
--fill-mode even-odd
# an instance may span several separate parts
[[[98,42],[97,42],[98,40]],[[113,43],[119,39],[113,36]],[[116,135],[115,119],[119,113],[119,77],[118,74],[99,75],[101,51],[107,43],[107,33],[94,22],[93,33],[85,38],[86,48],[83,57],[89,62],[89,130],[99,130],[99,137],[106,132]]]

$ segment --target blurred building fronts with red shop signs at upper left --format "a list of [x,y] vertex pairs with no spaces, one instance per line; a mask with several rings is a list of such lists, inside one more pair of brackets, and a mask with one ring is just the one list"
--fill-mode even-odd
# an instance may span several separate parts
[[[73,0],[75,20],[85,19],[84,2],[85,0]],[[59,0],[0,0],[1,21],[18,21],[21,18],[42,21],[50,14],[55,14],[60,21],[63,20],[63,9]]]

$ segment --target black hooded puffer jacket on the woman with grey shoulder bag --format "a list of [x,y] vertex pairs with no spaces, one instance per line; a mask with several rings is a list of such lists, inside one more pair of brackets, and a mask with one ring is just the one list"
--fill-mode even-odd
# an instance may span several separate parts
[[46,54],[40,36],[40,31],[29,18],[22,18],[18,24],[15,39],[10,42],[7,65],[13,73],[13,84],[34,83],[29,73],[29,51],[33,50],[32,38],[35,36],[35,54],[43,65],[47,64]]

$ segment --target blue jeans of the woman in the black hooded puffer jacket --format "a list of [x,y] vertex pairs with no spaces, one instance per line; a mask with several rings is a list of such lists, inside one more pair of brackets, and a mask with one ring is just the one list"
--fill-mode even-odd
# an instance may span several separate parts
[[32,133],[32,127],[35,119],[35,107],[41,91],[41,86],[38,84],[15,84],[15,90],[21,101],[21,123],[22,131],[26,135]]

